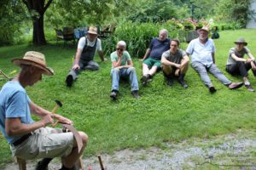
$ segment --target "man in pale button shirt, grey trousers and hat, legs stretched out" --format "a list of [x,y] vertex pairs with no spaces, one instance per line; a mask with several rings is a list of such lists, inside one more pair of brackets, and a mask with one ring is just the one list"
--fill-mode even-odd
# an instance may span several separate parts
[[241,88],[242,82],[230,82],[224,74],[218,70],[215,65],[215,45],[211,38],[208,38],[209,27],[203,26],[199,31],[199,37],[189,42],[186,50],[187,54],[191,55],[191,66],[197,71],[201,77],[202,82],[205,83],[210,93],[215,93],[214,88],[207,71],[225,86],[230,89]]

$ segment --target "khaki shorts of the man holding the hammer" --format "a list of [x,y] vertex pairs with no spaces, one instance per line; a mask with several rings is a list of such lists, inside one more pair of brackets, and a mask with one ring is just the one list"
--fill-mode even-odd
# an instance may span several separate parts
[[68,156],[73,149],[73,133],[60,128],[42,127],[18,146],[11,145],[13,156],[26,160]]

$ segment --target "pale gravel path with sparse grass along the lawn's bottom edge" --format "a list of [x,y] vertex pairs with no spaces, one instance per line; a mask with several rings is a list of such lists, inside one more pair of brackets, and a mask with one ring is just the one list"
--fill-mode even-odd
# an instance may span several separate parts
[[[108,170],[130,169],[255,169],[256,132],[238,131],[212,139],[188,139],[181,143],[165,143],[163,147],[147,150],[119,150],[112,155],[102,155]],[[101,169],[97,156],[83,159],[84,169]],[[36,161],[27,163],[34,169]],[[55,159],[49,169],[61,168]],[[17,169],[15,163],[5,167]]]

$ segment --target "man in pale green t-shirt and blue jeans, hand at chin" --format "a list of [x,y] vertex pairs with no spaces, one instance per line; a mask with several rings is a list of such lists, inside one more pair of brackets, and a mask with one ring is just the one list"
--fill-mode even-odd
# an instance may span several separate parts
[[126,43],[119,41],[116,45],[116,51],[110,55],[112,62],[112,90],[110,97],[113,100],[117,99],[119,94],[119,78],[129,78],[131,82],[131,94],[136,99],[139,98],[136,70],[133,67],[131,56],[125,48]]

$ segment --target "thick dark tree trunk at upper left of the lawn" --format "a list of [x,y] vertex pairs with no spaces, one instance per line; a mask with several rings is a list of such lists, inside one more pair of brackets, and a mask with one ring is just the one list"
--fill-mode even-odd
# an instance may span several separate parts
[[44,15],[37,20],[33,20],[33,44],[45,45],[46,40],[44,37]]

